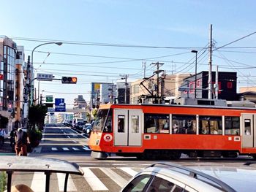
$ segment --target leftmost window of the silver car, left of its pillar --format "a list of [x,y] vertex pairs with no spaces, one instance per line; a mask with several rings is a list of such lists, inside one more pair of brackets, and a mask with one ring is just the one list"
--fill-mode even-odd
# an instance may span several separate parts
[[123,192],[141,192],[151,179],[150,174],[143,174],[132,180],[123,190]]

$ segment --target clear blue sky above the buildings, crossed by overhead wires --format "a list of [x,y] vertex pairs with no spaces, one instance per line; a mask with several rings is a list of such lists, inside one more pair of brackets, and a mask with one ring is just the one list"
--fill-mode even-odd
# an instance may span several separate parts
[[[66,42],[60,47],[38,47],[34,52],[34,67],[37,72],[51,73],[57,78],[65,75],[78,77],[77,85],[61,85],[58,81],[40,83],[44,96],[65,98],[67,104],[72,104],[78,94],[83,94],[89,101],[91,82],[116,82],[120,80],[120,74],[128,74],[130,81],[142,78],[143,61],[146,61],[147,76],[156,70],[151,63],[157,61],[165,64],[162,69],[167,74],[194,73],[195,53],[191,53],[192,49],[198,50],[200,55],[197,72],[208,70],[208,53],[203,53],[202,48],[208,45],[210,24],[213,25],[215,47],[256,31],[254,0],[9,0],[1,1],[0,5],[0,34],[23,45],[26,58],[42,42],[22,39]],[[256,47],[256,34],[228,47]],[[255,85],[255,48],[226,48],[213,54],[214,70],[218,65],[219,71],[238,72],[239,86]]]

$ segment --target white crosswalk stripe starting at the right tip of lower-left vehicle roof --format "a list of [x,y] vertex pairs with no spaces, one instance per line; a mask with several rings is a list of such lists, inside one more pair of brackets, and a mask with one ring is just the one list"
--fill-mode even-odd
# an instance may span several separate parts
[[99,180],[99,178],[91,172],[89,168],[82,167],[87,183],[90,185],[93,191],[108,191],[108,188]]

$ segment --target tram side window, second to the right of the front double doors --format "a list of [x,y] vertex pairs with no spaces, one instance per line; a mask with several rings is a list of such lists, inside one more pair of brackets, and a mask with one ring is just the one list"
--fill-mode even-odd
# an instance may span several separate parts
[[194,115],[173,115],[173,134],[196,134]]

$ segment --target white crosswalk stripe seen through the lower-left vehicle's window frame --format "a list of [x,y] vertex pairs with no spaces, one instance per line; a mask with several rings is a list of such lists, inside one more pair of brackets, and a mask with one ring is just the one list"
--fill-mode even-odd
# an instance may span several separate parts
[[34,172],[33,180],[31,183],[31,189],[37,192],[45,191],[45,173],[43,172]]

